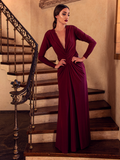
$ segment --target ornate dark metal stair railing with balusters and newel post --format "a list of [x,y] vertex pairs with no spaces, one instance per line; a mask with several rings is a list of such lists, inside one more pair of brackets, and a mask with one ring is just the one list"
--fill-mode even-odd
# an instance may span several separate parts
[[[33,39],[33,37],[28,33],[28,31],[22,26],[22,24],[16,19],[16,17],[11,13],[11,11],[7,8],[7,6],[0,0],[0,52],[2,53],[2,22],[1,22],[1,12],[6,16],[7,18],[7,61],[9,61],[9,32],[8,32],[8,21],[14,26],[14,60],[15,60],[15,72],[16,72],[16,31],[18,31],[22,36],[22,51],[23,51],[23,82],[24,82],[24,40],[27,41],[27,43],[31,46],[32,52],[33,52],[33,59],[32,64],[30,68],[30,73],[28,76],[27,84],[26,86],[20,90],[17,91],[17,88],[20,87],[20,82],[15,80],[11,84],[13,85],[14,91],[10,92],[12,97],[11,104],[15,105],[15,128],[14,128],[14,156],[13,159],[18,159],[18,146],[17,146],[17,140],[18,140],[18,127],[17,127],[17,105],[22,104],[26,102],[28,99],[30,99],[30,117],[33,116],[33,119],[30,118],[30,129],[32,130],[34,126],[34,108],[36,106],[35,102],[35,94],[34,94],[34,86],[37,84],[35,82],[34,84],[34,73],[36,69],[37,64],[37,57],[38,57],[38,44]],[[37,76],[37,69],[36,69],[36,76]],[[36,77],[37,81],[37,77]],[[33,108],[33,111],[32,111]],[[30,149],[32,149],[32,134],[30,134]]]

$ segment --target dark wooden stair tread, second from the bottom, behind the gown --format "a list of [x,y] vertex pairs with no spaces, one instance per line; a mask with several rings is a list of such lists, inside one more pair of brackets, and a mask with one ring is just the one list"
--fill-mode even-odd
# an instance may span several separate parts
[[[57,122],[35,124],[32,134],[56,133]],[[90,131],[118,131],[119,127],[111,117],[90,119]],[[30,130],[27,132],[30,133]]]

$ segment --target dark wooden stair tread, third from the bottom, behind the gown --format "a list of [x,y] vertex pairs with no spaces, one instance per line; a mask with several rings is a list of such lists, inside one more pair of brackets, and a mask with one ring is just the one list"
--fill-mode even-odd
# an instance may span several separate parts
[[[97,100],[89,102],[89,110],[111,109],[111,106],[105,100]],[[33,112],[33,111],[32,111]],[[57,114],[58,106],[38,107],[34,115]]]

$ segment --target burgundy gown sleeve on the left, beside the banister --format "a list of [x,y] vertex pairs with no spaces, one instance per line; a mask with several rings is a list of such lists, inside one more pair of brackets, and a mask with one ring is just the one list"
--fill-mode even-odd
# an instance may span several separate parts
[[39,51],[39,54],[38,54],[38,59],[41,62],[45,63],[46,65],[55,68],[55,64],[44,57],[46,51],[51,47],[51,44],[50,44],[49,39],[47,37],[47,34],[48,34],[48,32],[46,32],[46,34],[44,36],[44,39],[42,41],[40,51]]

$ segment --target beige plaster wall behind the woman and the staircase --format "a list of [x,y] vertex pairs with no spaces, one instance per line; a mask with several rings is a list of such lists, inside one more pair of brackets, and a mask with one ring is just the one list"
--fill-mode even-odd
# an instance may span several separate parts
[[[41,9],[39,0],[3,2],[40,45],[44,33],[52,28],[54,7]],[[112,117],[120,126],[120,62],[114,60],[116,0],[81,0],[68,6],[71,12],[69,24],[77,26],[97,41],[94,51],[85,61],[88,87],[105,90],[104,99],[112,106]],[[87,44],[77,42],[80,56],[86,47]],[[52,49],[47,52],[47,57],[56,58]]]

